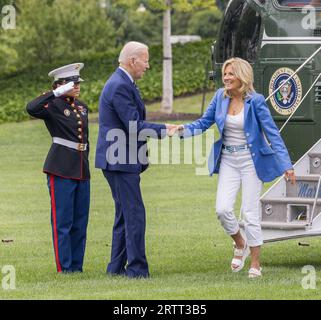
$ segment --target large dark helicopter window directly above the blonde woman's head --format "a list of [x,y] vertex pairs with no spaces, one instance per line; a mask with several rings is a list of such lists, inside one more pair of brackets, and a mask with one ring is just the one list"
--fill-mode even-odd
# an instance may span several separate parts
[[[233,6],[234,4],[234,6]],[[232,2],[220,31],[218,61],[231,57],[256,60],[261,16],[246,1]]]

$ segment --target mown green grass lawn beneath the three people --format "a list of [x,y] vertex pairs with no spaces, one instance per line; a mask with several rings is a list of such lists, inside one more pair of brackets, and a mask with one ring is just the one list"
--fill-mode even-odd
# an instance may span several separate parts
[[[199,96],[196,109],[200,103]],[[319,238],[300,239],[309,247],[298,246],[298,240],[264,245],[262,279],[247,278],[249,262],[240,273],[230,271],[232,242],[214,211],[216,176],[196,175],[195,163],[154,164],[142,174],[151,278],[107,276],[114,206],[101,171],[94,168],[97,130],[97,124],[91,123],[92,192],[84,272],[61,275],[55,270],[50,200],[42,173],[49,134],[39,120],[0,125],[0,241],[13,240],[0,242],[0,270],[5,265],[16,269],[16,289],[0,286],[0,299],[321,297]],[[238,200],[237,211],[239,207]],[[301,286],[305,265],[316,268],[314,290]]]

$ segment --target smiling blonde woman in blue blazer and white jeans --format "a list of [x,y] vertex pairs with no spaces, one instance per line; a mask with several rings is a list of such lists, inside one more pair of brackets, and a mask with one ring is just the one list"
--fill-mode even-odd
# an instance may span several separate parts
[[[217,90],[204,115],[181,125],[182,137],[203,133],[216,123],[221,138],[213,145],[210,174],[218,173],[216,213],[235,242],[231,261],[240,271],[251,254],[249,277],[260,277],[260,247],[263,244],[259,199],[262,182],[285,174],[295,183],[288,151],[265,99],[255,92],[251,65],[240,58],[227,60],[222,67],[224,88]],[[246,240],[234,214],[234,203],[242,185],[242,213]]]

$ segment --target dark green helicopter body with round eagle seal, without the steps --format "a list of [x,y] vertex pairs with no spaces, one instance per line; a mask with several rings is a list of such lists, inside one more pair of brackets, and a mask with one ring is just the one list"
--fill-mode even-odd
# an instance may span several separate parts
[[215,82],[224,61],[245,59],[277,126],[291,116],[282,138],[294,162],[321,137],[320,47],[321,0],[231,0],[212,46]]

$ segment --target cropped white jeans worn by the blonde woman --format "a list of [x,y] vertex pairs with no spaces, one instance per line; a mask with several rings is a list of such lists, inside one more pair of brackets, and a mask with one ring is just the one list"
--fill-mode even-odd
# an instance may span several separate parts
[[259,199],[262,181],[258,178],[249,150],[230,153],[223,150],[216,194],[216,214],[226,233],[234,235],[239,224],[234,203],[242,184],[244,231],[250,247],[263,244]]

